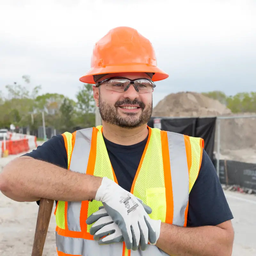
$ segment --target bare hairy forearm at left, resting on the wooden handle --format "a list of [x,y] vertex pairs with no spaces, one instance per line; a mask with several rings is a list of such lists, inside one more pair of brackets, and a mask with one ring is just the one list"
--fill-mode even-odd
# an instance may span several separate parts
[[21,156],[0,173],[0,190],[19,202],[48,198],[61,201],[94,199],[102,178],[68,171],[44,161]]

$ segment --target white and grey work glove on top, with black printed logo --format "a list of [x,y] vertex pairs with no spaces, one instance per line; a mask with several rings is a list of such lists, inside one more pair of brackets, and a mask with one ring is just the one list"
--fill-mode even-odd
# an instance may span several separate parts
[[[95,200],[102,202],[107,214],[120,228],[128,250],[137,250],[139,244],[144,248],[148,240],[152,244],[156,243],[156,230],[149,224],[150,218],[145,211],[148,209],[148,213],[151,213],[151,208],[130,192],[118,186],[114,181],[103,177]],[[92,224],[100,217],[102,217],[101,214],[93,213],[86,223]]]

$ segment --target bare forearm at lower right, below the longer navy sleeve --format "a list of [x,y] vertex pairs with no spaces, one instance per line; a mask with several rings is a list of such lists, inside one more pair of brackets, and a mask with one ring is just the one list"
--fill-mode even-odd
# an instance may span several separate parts
[[228,229],[217,226],[184,228],[162,223],[156,246],[175,256],[230,256],[234,232],[231,221],[224,225]]

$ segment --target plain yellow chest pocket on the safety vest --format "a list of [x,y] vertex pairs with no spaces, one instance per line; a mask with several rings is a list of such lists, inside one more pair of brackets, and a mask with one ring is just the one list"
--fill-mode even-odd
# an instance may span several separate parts
[[147,205],[151,207],[152,213],[149,217],[153,220],[165,222],[166,217],[166,198],[165,188],[147,188],[146,189]]

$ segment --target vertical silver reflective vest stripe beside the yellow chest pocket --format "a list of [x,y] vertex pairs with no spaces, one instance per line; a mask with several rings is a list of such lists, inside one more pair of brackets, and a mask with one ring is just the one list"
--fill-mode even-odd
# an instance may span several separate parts
[[188,204],[189,177],[188,161],[184,136],[167,132],[172,177],[173,221],[177,226],[184,226],[185,211]]

